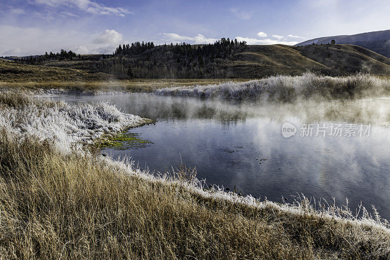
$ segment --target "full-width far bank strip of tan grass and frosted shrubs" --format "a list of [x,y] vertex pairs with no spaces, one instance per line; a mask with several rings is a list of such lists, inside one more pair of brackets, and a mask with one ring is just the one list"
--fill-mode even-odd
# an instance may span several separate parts
[[351,100],[390,96],[390,79],[355,73],[330,77],[306,72],[301,76],[277,75],[250,79],[133,79],[83,81],[0,81],[0,90],[32,95],[104,95],[154,93],[236,100]]

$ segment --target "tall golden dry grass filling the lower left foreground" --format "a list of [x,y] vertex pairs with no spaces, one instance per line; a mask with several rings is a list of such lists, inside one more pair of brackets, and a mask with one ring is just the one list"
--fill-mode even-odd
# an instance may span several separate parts
[[[1,134],[1,242],[7,258],[303,257],[263,221],[197,203],[96,158]],[[20,149],[25,152],[22,154]],[[18,166],[19,165],[19,166]],[[15,167],[18,166],[18,167]],[[274,249],[269,251],[269,247]]]

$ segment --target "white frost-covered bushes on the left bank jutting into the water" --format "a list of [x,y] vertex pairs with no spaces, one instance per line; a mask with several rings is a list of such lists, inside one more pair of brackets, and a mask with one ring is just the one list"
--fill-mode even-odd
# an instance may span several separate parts
[[[0,94],[20,95],[14,93]],[[20,98],[20,97],[19,97]],[[54,138],[64,151],[75,143],[92,143],[108,132],[118,132],[143,122],[138,116],[120,112],[108,102],[67,104],[45,99],[25,99],[17,107],[0,100],[0,127],[23,137]]]

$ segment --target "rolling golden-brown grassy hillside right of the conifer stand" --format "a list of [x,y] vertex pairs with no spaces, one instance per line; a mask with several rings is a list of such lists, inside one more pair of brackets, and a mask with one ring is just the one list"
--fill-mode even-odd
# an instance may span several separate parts
[[249,45],[224,68],[232,78],[301,75],[307,70],[344,76],[361,71],[390,75],[390,59],[365,48],[346,45]]

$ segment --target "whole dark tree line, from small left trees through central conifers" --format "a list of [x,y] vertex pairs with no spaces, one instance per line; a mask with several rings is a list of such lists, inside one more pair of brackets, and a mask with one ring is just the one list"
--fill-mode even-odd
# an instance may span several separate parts
[[[51,64],[52,60],[75,60],[66,67],[115,75],[117,79],[131,78],[230,78],[229,60],[244,51],[245,41],[221,38],[213,44],[171,43],[156,46],[153,41],[121,44],[112,55],[80,56],[61,49],[18,62]],[[55,62],[53,66],[64,67]]]

